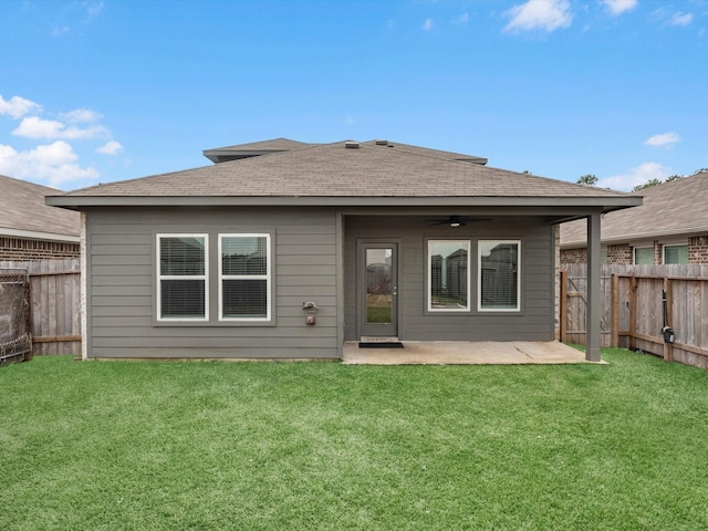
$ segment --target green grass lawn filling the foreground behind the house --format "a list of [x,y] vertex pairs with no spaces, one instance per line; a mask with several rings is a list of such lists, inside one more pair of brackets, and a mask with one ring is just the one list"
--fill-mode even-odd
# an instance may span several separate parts
[[604,358],[0,367],[0,529],[708,529],[708,372]]

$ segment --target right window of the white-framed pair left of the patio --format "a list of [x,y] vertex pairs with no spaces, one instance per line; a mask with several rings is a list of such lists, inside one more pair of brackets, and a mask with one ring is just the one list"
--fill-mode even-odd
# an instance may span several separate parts
[[219,319],[270,321],[270,235],[219,236]]

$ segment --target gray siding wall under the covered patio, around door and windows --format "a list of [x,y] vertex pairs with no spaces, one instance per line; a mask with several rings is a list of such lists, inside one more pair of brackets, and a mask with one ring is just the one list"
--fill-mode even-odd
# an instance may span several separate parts
[[[439,217],[439,216],[438,216]],[[435,216],[427,219],[435,219]],[[391,218],[386,231],[399,248],[399,331],[408,341],[551,341],[554,337],[552,228],[533,218],[498,218],[450,229],[426,227],[426,218]],[[356,340],[356,241],[376,239],[381,218],[346,219],[345,339]],[[471,257],[470,312],[427,312],[426,238],[521,240],[521,312],[477,311],[477,257]],[[475,246],[473,246],[475,249]]]

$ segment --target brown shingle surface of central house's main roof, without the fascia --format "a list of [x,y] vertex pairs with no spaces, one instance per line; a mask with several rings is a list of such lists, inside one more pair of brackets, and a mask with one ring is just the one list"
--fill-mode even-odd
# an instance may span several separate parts
[[[624,197],[624,194],[483,166],[415,146],[308,145],[183,171],[108,183],[65,197]],[[460,160],[460,157],[464,159]],[[472,160],[472,162],[470,162]],[[473,163],[477,160],[477,163]]]

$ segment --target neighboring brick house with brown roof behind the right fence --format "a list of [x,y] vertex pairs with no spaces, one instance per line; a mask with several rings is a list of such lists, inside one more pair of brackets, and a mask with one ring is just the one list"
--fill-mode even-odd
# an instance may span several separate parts
[[[708,171],[644,188],[641,207],[602,218],[605,263],[708,263]],[[561,226],[561,263],[586,261],[585,222]]]

